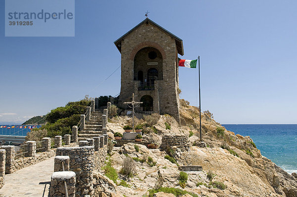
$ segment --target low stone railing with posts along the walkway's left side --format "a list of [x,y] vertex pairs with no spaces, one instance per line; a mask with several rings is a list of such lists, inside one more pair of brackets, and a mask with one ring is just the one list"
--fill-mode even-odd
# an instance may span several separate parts
[[[52,141],[54,142],[53,145],[51,145]],[[11,174],[16,170],[46,160],[55,155],[55,148],[62,147],[62,145],[70,146],[73,141],[74,138],[71,140],[71,135],[65,135],[64,137],[56,136],[55,138],[43,138],[42,141],[39,142],[27,141],[20,146],[1,146],[0,188],[3,186],[5,174]],[[37,144],[41,148],[37,148]],[[16,152],[16,150],[18,152]]]

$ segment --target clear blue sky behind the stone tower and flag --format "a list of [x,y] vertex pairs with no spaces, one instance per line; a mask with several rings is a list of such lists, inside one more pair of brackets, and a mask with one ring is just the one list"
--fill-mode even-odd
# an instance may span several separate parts
[[[297,2],[76,0],[75,37],[4,37],[0,1],[0,123],[22,123],[85,95],[120,91],[113,42],[149,18],[200,55],[201,109],[221,124],[297,124]],[[196,105],[196,73],[180,68]]]

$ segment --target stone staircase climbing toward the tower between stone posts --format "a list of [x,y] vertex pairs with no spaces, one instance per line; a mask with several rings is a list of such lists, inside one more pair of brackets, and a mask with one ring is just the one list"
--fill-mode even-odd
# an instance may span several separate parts
[[90,120],[86,120],[85,129],[78,132],[78,141],[98,137],[102,134],[102,111],[91,112]]

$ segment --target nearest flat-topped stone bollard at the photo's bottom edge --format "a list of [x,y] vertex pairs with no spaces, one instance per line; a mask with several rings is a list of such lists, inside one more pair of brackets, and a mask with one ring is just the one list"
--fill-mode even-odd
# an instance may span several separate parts
[[50,197],[65,197],[65,185],[67,185],[68,197],[75,197],[75,172],[54,172],[50,180]]

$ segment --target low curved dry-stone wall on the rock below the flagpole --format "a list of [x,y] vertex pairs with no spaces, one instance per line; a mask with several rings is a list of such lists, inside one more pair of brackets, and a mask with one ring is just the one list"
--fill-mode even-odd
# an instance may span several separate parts
[[189,136],[184,134],[165,134],[160,148],[177,147],[188,149],[190,147]]

